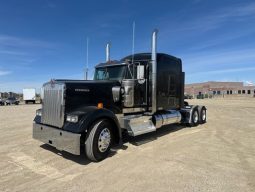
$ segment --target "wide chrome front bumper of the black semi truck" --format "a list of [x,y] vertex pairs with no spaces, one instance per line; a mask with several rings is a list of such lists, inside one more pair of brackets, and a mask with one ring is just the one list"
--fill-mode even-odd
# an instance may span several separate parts
[[33,138],[61,151],[80,155],[80,137],[81,134],[33,123]]

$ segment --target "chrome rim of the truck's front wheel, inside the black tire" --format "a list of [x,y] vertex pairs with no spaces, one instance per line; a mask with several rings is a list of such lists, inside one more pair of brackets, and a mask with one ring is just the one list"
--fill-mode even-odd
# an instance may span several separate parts
[[108,128],[104,128],[99,134],[98,149],[100,152],[105,152],[111,143],[111,133]]

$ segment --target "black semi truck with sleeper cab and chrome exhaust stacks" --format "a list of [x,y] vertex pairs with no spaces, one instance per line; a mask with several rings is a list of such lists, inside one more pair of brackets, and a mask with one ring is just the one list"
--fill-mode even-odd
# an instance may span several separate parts
[[182,123],[206,122],[206,107],[184,102],[184,72],[179,58],[152,52],[110,60],[95,67],[94,80],[51,80],[42,88],[42,108],[36,111],[33,138],[59,150],[100,161],[124,133],[138,136]]

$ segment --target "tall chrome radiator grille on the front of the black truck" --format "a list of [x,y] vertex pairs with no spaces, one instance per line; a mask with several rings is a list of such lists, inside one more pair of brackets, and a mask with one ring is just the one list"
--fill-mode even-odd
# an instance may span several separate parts
[[43,86],[42,123],[55,127],[64,124],[65,84],[51,82]]

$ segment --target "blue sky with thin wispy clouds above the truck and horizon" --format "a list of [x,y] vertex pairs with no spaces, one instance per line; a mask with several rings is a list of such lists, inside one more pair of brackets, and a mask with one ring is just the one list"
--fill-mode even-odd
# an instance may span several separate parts
[[183,60],[186,83],[255,82],[255,2],[249,0],[0,0],[0,92],[21,92],[51,78],[82,79],[89,37],[89,68],[132,51]]

